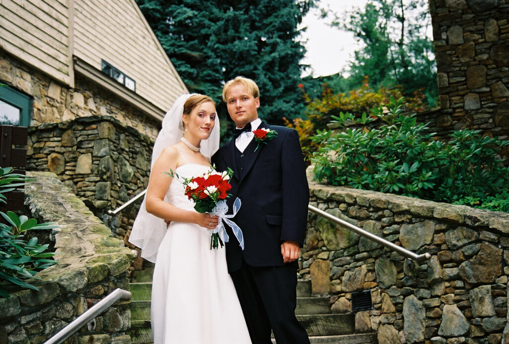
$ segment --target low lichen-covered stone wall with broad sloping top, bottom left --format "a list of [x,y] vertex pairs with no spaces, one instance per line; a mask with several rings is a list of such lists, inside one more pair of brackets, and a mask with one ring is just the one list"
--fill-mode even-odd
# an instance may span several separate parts
[[[25,188],[25,206],[39,222],[57,222],[50,233],[58,263],[33,280],[39,291],[13,292],[0,298],[0,342],[42,343],[98,299],[117,288],[129,290],[127,271],[133,259],[129,248],[115,239],[101,220],[52,173],[28,173],[36,178]],[[130,301],[120,301],[96,318],[70,342],[130,343]]]

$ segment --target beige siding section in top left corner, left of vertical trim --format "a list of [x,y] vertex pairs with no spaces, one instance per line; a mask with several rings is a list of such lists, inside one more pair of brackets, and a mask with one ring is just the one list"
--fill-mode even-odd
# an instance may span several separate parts
[[0,17],[0,48],[71,84],[67,0],[0,0]]

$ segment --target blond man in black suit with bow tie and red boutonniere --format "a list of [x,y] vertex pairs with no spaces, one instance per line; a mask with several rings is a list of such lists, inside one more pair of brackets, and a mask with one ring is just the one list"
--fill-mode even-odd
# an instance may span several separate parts
[[[259,89],[253,80],[228,81],[222,97],[237,129],[212,162],[218,171],[234,171],[229,209],[236,197],[242,201],[234,221],[245,247],[230,239],[226,257],[249,335],[254,344],[270,344],[271,330],[278,344],[309,343],[295,317],[297,259],[309,202],[299,136],[258,118]],[[270,132],[258,139],[253,131],[262,128]]]

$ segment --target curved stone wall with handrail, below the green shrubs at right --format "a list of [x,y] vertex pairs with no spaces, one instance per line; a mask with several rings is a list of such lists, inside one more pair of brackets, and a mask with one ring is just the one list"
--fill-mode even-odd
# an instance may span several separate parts
[[377,331],[380,344],[509,342],[509,214],[313,183],[310,193],[311,205],[432,254],[419,264],[309,213],[300,276],[338,313],[371,291],[356,332]]

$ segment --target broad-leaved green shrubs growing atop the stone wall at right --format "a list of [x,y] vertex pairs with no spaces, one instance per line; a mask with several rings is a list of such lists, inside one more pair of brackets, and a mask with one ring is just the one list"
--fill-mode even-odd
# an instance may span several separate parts
[[[371,116],[332,116],[344,131],[319,130],[312,137],[315,176],[332,185],[395,193],[436,202],[466,204],[509,211],[509,167],[499,157],[509,141],[480,136],[479,130],[459,130],[448,142],[435,140],[415,114],[405,116],[403,99],[391,99]],[[370,129],[366,125],[383,124]],[[346,124],[354,124],[354,128]]]

